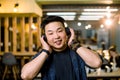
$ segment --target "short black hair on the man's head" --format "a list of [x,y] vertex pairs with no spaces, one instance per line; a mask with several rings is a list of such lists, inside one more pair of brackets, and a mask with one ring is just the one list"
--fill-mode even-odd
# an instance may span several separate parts
[[61,22],[64,26],[65,20],[59,16],[47,16],[45,19],[43,19],[41,23],[41,28],[44,30],[45,26],[50,22]]

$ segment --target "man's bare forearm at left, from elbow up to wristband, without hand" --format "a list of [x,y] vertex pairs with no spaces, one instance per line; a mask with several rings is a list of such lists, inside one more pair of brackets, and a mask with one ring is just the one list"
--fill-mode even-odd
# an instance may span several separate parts
[[47,57],[46,52],[41,52],[40,55],[25,64],[21,70],[21,78],[23,80],[32,80],[40,71]]

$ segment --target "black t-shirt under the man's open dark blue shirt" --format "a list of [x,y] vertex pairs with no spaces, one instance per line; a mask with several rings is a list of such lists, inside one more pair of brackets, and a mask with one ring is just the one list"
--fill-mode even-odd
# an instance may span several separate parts
[[69,48],[65,49],[62,52],[53,52],[54,53],[54,64],[56,72],[56,80],[76,80],[75,72],[73,70],[73,65],[70,57]]

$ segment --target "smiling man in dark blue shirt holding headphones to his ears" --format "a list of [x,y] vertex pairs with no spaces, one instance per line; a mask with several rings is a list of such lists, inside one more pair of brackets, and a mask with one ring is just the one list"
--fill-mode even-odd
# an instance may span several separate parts
[[87,80],[85,65],[100,67],[98,54],[82,47],[75,40],[74,30],[68,32],[64,22],[59,16],[48,16],[43,20],[42,50],[23,66],[23,80],[31,80],[39,72],[42,80]]

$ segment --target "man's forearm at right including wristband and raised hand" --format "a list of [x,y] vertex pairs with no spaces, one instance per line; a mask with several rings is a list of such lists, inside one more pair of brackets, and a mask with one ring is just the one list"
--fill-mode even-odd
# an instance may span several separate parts
[[74,30],[70,28],[71,37],[68,41],[68,45],[72,50],[76,51],[79,56],[85,61],[85,63],[93,68],[100,67],[102,60],[97,53],[93,50],[82,47],[80,43],[76,40]]

